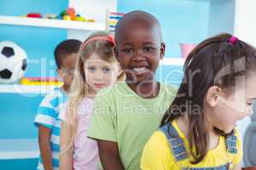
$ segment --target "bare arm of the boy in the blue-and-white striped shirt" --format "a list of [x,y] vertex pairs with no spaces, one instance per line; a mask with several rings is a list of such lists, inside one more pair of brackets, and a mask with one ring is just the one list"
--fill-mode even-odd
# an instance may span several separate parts
[[41,152],[44,169],[52,170],[52,155],[49,144],[50,129],[40,125],[38,128],[38,143]]

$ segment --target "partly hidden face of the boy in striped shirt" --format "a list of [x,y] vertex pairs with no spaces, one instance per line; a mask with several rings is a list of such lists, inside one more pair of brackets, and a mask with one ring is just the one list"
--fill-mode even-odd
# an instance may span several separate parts
[[76,66],[76,62],[79,54],[69,54],[65,59],[61,60],[61,69],[58,69],[59,77],[62,78],[64,82],[64,88],[68,88],[73,81],[73,72]]

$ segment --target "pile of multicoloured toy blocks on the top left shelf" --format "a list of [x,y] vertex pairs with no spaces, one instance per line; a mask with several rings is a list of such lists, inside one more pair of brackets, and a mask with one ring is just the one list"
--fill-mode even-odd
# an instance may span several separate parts
[[76,21],[82,21],[82,22],[95,22],[93,19],[85,19],[80,14],[76,14],[76,11],[74,8],[67,8],[63,11],[61,11],[61,14],[57,17],[60,20],[76,20]]

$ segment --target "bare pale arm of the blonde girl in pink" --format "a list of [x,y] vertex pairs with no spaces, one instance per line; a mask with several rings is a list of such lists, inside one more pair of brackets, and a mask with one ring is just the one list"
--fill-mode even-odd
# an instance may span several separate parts
[[71,127],[66,121],[61,122],[61,152],[60,152],[60,169],[73,169],[73,144]]

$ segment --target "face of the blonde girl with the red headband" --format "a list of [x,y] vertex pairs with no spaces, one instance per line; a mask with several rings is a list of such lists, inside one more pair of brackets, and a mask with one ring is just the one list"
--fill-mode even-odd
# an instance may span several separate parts
[[113,85],[119,74],[118,62],[110,63],[98,54],[92,54],[84,62],[84,75],[89,86],[89,94],[96,94],[98,90]]

